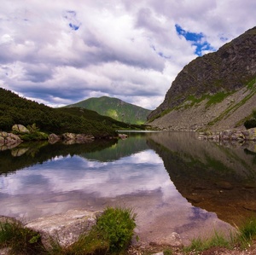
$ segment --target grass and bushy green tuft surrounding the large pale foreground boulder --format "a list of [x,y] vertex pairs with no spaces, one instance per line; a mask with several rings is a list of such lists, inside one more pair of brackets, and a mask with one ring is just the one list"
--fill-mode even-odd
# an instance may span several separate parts
[[48,250],[42,245],[38,232],[18,222],[1,223],[0,248],[9,247],[11,254],[125,254],[136,227],[135,217],[131,209],[108,207],[88,235],[80,235],[79,240],[68,247],[61,247],[52,240]]

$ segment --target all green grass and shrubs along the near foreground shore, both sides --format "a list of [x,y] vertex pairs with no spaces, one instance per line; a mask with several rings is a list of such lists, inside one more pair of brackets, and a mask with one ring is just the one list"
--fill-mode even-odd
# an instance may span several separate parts
[[[9,247],[10,254],[49,254],[49,255],[93,255],[93,254],[126,254],[131,244],[133,230],[136,227],[136,215],[131,209],[108,207],[100,217],[96,225],[85,235],[79,236],[79,240],[73,245],[61,247],[57,241],[51,241],[51,247],[47,250],[41,242],[41,235],[32,229],[22,227],[19,222],[0,223],[0,248]],[[256,218],[249,218],[236,231],[230,231],[230,235],[214,231],[211,237],[201,239],[194,238],[189,246],[182,249],[183,254],[189,252],[202,252],[212,247],[233,249],[240,247],[245,249],[256,238]],[[166,248],[164,254],[173,254],[172,249]]]

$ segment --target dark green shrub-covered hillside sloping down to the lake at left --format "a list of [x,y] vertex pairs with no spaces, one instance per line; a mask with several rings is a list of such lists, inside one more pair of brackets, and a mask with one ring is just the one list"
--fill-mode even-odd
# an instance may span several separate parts
[[73,132],[106,137],[115,135],[115,130],[142,128],[79,107],[47,107],[2,88],[0,98],[0,130],[4,131],[11,130],[15,124],[36,124],[40,130],[47,133]]

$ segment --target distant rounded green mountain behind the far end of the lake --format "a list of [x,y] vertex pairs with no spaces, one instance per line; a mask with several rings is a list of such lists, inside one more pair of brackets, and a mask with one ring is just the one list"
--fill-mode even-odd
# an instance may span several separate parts
[[121,101],[118,98],[108,96],[91,97],[84,101],[68,105],[67,107],[90,109],[101,115],[106,115],[125,123],[137,125],[145,123],[148,114],[151,112],[143,107],[137,107],[131,103]]

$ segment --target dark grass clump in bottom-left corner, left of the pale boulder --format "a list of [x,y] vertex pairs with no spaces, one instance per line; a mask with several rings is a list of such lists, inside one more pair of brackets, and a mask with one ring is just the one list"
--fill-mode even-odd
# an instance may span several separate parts
[[41,235],[24,228],[19,222],[0,223],[0,248],[9,247],[10,254],[44,254]]

